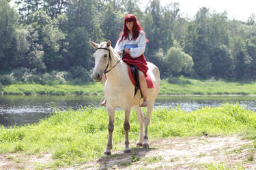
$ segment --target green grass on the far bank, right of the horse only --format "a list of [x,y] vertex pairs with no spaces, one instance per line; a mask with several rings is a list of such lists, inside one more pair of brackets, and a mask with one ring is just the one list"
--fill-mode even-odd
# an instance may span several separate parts
[[173,83],[162,80],[161,95],[255,95],[256,82],[224,82],[222,80],[195,80],[175,78]]

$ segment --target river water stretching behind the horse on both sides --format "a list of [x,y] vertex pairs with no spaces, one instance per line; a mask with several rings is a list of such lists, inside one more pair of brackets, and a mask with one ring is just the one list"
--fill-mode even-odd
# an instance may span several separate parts
[[[3,126],[23,125],[39,122],[51,116],[55,108],[79,109],[81,106],[100,107],[102,97],[33,97],[0,96],[0,124]],[[256,112],[256,96],[161,96],[155,107],[177,108],[186,112],[201,107],[216,107],[223,103],[240,103]]]

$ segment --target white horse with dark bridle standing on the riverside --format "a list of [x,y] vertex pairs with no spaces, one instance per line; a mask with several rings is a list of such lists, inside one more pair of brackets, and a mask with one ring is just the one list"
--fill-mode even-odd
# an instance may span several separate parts
[[[142,109],[139,107],[139,102],[141,101],[142,103],[143,101],[140,100],[141,92],[138,90],[137,95],[134,97],[134,86],[128,75],[128,65],[122,61],[122,58],[120,58],[117,52],[111,47],[111,41],[102,42],[100,44],[90,41],[90,44],[96,48],[96,52],[94,53],[95,66],[92,77],[96,82],[100,82],[103,73],[106,74],[104,95],[106,97],[106,109],[109,112],[109,139],[104,154],[111,154],[115,109],[117,107],[124,109],[125,112],[124,130],[126,131],[126,140],[124,152],[130,152],[128,132],[130,130],[129,118],[132,106],[134,106],[137,112],[140,123],[137,147],[143,146],[143,148],[149,148],[147,127],[150,124],[150,114],[152,113],[154,102],[159,92],[159,69],[152,63],[147,62],[147,66],[149,67],[148,75],[152,78],[154,88],[147,89],[147,114],[144,120]],[[143,135],[144,122],[145,134]]]

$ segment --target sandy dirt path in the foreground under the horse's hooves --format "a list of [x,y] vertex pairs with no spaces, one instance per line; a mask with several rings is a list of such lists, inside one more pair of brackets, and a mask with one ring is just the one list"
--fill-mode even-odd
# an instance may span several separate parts
[[[242,137],[190,137],[151,141],[148,150],[132,148],[128,154],[114,151],[85,165],[59,169],[205,169],[227,167],[255,169],[256,154],[252,141]],[[131,143],[131,147],[134,143]],[[17,160],[15,154],[0,155],[0,169],[35,169],[51,162],[51,155]]]

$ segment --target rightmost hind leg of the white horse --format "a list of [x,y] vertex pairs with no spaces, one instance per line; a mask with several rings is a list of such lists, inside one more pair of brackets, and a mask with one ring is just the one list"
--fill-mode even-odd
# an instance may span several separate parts
[[147,127],[150,125],[150,115],[154,109],[154,101],[148,101],[147,105],[147,115],[145,116],[145,135],[143,139],[143,148],[150,148],[150,144],[148,143],[147,137]]

